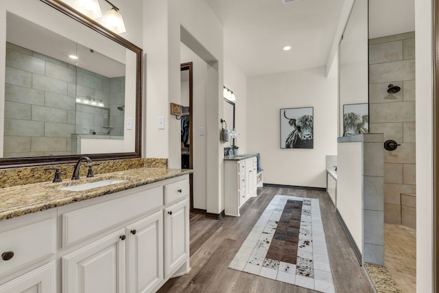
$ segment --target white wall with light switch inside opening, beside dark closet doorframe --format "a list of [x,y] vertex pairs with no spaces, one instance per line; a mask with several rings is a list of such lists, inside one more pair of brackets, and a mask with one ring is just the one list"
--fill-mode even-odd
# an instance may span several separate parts
[[[206,128],[206,62],[184,44],[180,46],[182,63],[192,62],[192,143],[193,143],[193,207],[206,210],[206,135],[200,135],[200,127]],[[185,105],[186,106],[186,105]]]

